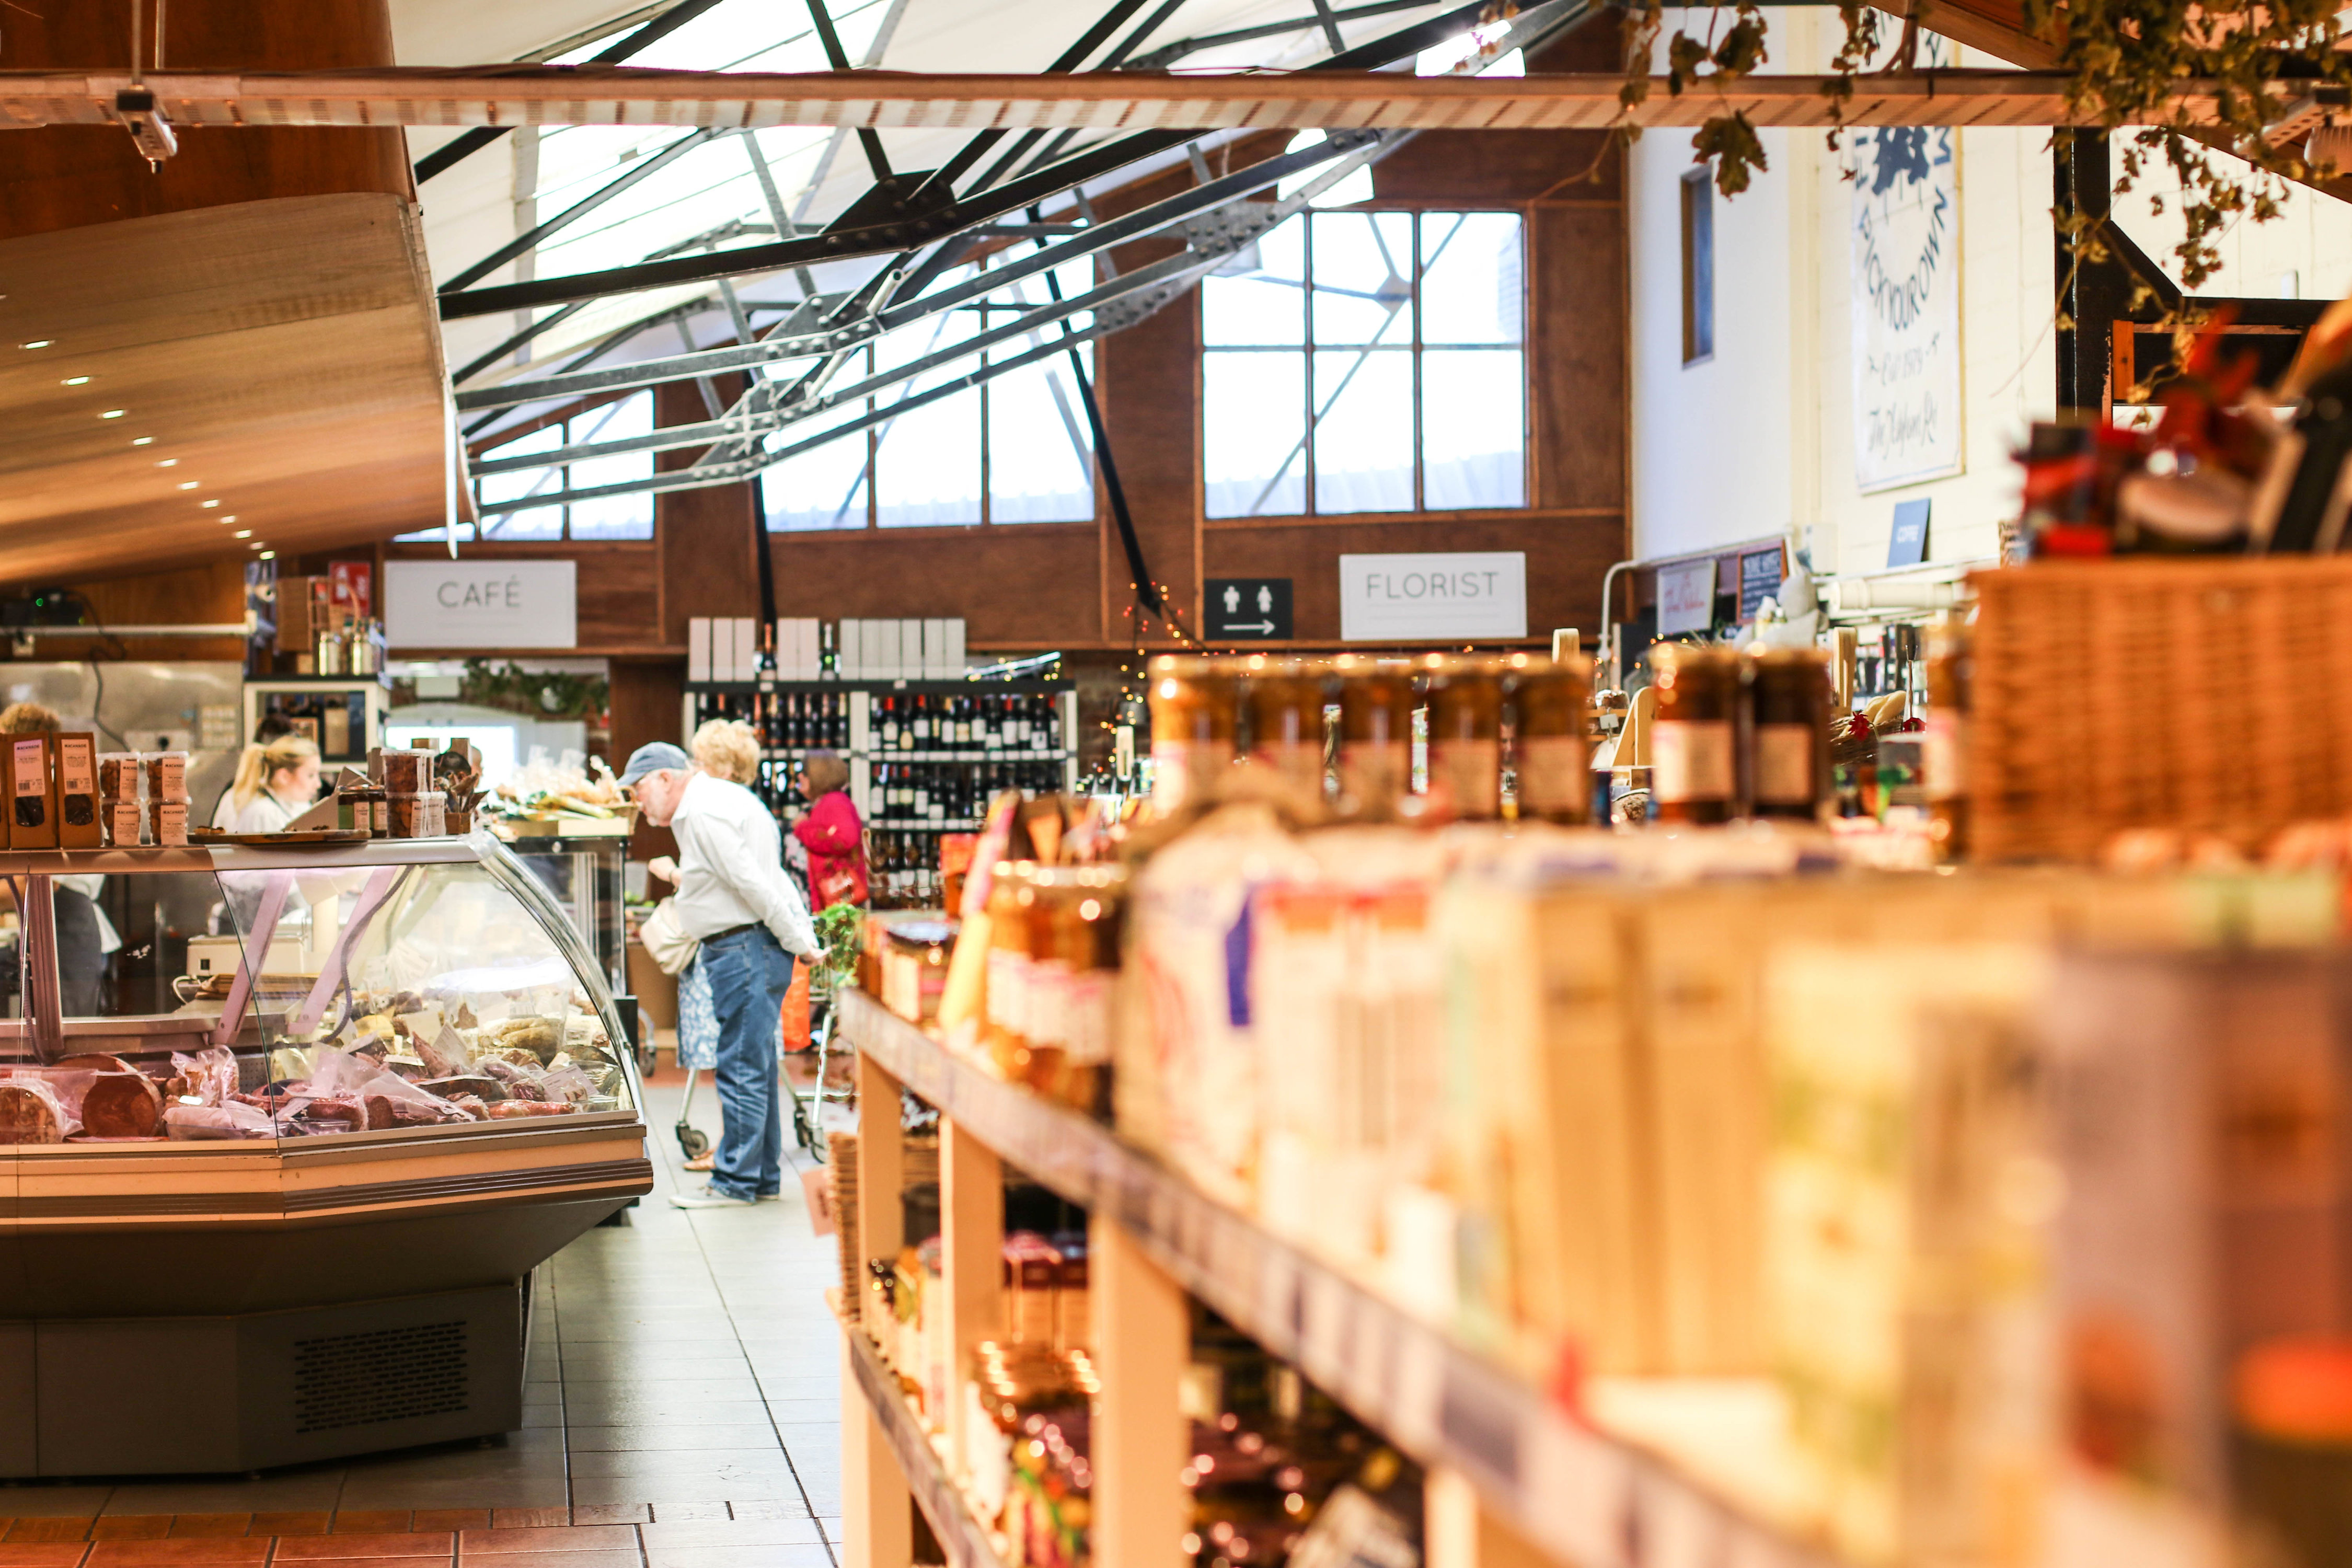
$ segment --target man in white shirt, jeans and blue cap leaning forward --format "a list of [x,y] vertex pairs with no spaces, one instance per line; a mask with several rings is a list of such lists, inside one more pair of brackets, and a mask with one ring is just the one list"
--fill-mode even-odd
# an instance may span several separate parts
[[816,926],[783,875],[783,837],[760,797],[694,769],[675,745],[640,745],[621,769],[644,820],[677,835],[677,924],[703,945],[720,1016],[717,1077],[727,1126],[710,1185],[680,1208],[734,1208],[783,1197],[783,1110],[776,1023],[793,954],[816,952]]

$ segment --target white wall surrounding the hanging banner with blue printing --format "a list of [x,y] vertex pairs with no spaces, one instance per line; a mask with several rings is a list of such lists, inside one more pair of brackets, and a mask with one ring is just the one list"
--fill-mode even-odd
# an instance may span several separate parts
[[[1837,19],[1771,16],[1771,71],[1820,68]],[[1668,33],[1675,12],[1668,12]],[[1693,16],[1705,31],[1708,16]],[[1966,61],[1990,63],[1990,61]],[[1630,160],[1635,555],[1788,531],[1818,571],[1886,564],[1898,501],[1931,496],[1929,559],[1992,555],[2011,447],[2051,407],[2051,165],[2042,129],[1959,136],[1962,473],[1863,494],[1853,477],[1851,186],[1823,132],[1762,132],[1769,172],[1715,207],[1715,360],[1682,364],[1689,132]]]

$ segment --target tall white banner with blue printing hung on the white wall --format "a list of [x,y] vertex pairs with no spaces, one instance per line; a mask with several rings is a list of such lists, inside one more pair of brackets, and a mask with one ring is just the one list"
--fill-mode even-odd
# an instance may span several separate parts
[[1962,470],[1959,132],[1889,125],[1853,148],[1853,482]]

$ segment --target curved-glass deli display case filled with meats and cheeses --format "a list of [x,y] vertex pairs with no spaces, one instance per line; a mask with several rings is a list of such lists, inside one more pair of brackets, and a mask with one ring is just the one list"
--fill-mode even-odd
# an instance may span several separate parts
[[[207,929],[103,959],[75,900]],[[473,835],[0,853],[0,1476],[520,1427],[532,1267],[652,1190],[604,964],[546,886]]]

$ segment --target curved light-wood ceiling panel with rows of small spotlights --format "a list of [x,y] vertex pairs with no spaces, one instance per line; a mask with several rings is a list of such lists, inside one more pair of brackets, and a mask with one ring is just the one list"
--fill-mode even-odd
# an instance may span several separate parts
[[440,339],[400,197],[7,240],[0,296],[0,581],[440,522]]

